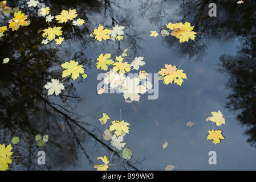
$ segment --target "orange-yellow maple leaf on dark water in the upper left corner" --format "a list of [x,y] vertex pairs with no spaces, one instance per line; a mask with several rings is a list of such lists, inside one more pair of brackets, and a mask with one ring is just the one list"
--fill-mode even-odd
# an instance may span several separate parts
[[14,13],[14,17],[9,20],[9,28],[11,28],[12,31],[18,30],[19,26],[24,26],[28,23],[27,16],[24,13],[21,13],[21,11],[18,11]]

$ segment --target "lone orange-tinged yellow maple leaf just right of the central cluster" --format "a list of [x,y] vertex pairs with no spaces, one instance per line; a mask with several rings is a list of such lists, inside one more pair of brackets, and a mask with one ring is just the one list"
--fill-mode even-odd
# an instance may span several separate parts
[[174,84],[181,86],[183,79],[187,79],[186,74],[183,72],[184,71],[182,69],[177,69],[175,65],[172,66],[170,64],[165,64],[165,68],[162,68],[159,71],[159,74],[164,76],[164,83],[166,85],[174,82]]

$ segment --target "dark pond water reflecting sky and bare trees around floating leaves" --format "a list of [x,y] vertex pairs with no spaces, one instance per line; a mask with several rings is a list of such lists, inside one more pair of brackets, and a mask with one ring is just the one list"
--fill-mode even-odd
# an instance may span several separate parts
[[[64,42],[42,44],[40,28],[47,28],[38,7],[28,7],[27,1],[9,1],[29,15],[31,24],[18,31],[6,31],[0,39],[0,143],[13,145],[15,156],[10,170],[95,170],[101,164],[97,157],[112,155],[113,147],[103,138],[110,125],[100,125],[98,118],[107,113],[113,120],[130,123],[124,136],[131,148],[130,160],[121,158],[115,150],[109,170],[164,170],[172,164],[174,170],[255,170],[256,162],[256,40],[255,1],[217,2],[217,17],[210,17],[212,1],[41,1],[50,7],[53,16],[76,9],[83,26],[63,26]],[[11,16],[10,16],[11,17]],[[1,17],[2,23],[10,17]],[[8,19],[9,18],[9,19]],[[169,22],[190,22],[196,34],[194,41],[179,43],[174,36],[149,36],[160,32]],[[124,39],[103,40],[88,37],[103,24],[125,26]],[[111,53],[112,59],[129,48],[130,57],[144,56],[142,70],[157,73],[164,64],[178,65],[187,74],[181,86],[159,82],[156,100],[151,94],[141,94],[140,101],[124,102],[122,94],[97,95],[95,62],[84,65],[86,80],[71,77],[63,81],[65,90],[57,97],[48,96],[43,86],[51,78],[62,79],[64,61],[83,64],[96,60],[100,53]],[[213,125],[206,118],[220,110],[227,117],[222,130],[225,140],[214,144],[207,140]],[[195,123],[187,127],[186,123]],[[43,146],[35,135],[48,134]],[[162,144],[168,146],[162,150]],[[44,151],[46,164],[39,165],[36,154]],[[209,151],[216,151],[217,164],[210,165]]]

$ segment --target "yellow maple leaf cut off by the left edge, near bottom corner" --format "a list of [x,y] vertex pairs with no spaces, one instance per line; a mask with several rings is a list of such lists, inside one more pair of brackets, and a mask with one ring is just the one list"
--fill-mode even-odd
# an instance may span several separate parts
[[6,146],[5,143],[0,144],[0,171],[6,171],[8,169],[8,164],[12,163],[12,160],[10,159],[13,152],[11,152],[11,144]]

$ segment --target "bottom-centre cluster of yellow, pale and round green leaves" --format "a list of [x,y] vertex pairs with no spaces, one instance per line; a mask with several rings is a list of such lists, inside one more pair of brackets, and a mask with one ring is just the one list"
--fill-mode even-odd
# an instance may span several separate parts
[[[108,121],[109,116],[107,113],[102,113],[102,118],[99,118],[99,121],[101,125],[104,125]],[[123,138],[125,134],[129,133],[129,123],[121,121],[111,121],[112,125],[109,126],[109,129],[106,129],[103,133],[103,138],[105,140],[111,140],[111,145],[115,147],[117,150],[122,150],[122,148],[125,146],[126,143],[123,142]],[[112,135],[112,131],[115,131],[115,133]],[[113,149],[113,151],[115,150]],[[125,160],[129,160],[132,157],[132,151],[130,148],[125,147],[122,151],[121,156]],[[104,164],[95,165],[94,168],[97,169],[97,171],[107,171],[108,169],[108,163],[111,161],[108,160],[107,156],[104,155],[104,157],[100,156],[97,158],[97,160],[102,160]]]

